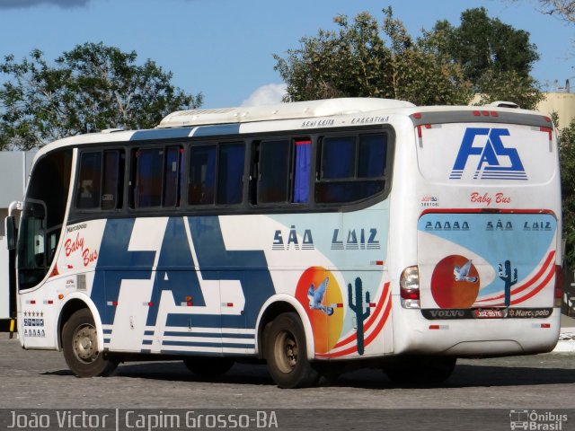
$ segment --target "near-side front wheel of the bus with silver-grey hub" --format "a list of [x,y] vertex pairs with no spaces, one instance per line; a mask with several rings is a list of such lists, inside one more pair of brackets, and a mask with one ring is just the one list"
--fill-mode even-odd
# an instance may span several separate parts
[[111,375],[118,362],[104,358],[90,310],[78,310],[64,324],[62,347],[66,364],[78,377]]

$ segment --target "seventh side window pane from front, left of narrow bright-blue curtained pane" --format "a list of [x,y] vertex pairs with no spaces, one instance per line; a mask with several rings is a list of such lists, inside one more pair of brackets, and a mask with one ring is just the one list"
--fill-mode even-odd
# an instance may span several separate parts
[[289,200],[288,140],[264,141],[260,145],[258,203],[281,203]]

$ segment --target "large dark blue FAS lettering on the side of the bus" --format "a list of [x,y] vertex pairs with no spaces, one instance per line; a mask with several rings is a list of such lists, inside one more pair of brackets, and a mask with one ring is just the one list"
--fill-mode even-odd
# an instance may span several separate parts
[[[218,337],[253,339],[250,334],[235,334],[230,330],[255,328],[261,305],[275,294],[270,270],[263,251],[228,251],[222,236],[217,216],[170,217],[159,251],[130,251],[128,246],[134,229],[135,218],[111,219],[106,222],[102,244],[95,268],[91,297],[102,315],[102,324],[114,322],[116,307],[107,303],[118,301],[122,280],[150,280],[154,276],[152,302],[159,303],[164,291],[173,295],[176,304],[190,301],[194,307],[204,307],[206,302],[199,286],[199,273],[204,280],[234,280],[243,289],[245,304],[237,314],[195,314],[193,307],[179,307],[181,311],[167,315],[166,320],[157,321],[158,307],[146,307],[145,336],[155,334],[158,323],[168,327],[181,328],[178,336],[209,337],[189,333],[189,328],[224,328],[226,335]],[[195,245],[198,261],[191,255],[185,224],[189,224],[191,240]],[[153,273],[155,254],[159,253],[158,266]],[[209,288],[217,284],[210,284]],[[204,288],[208,288],[204,286]],[[220,292],[221,293],[221,292]],[[190,298],[190,299],[188,299]],[[222,303],[234,302],[235,298],[222,297]],[[226,330],[229,329],[229,330]],[[111,334],[111,329],[106,334]],[[178,333],[180,331],[173,331]],[[183,335],[183,334],[186,335]],[[166,334],[167,335],[167,334]]]

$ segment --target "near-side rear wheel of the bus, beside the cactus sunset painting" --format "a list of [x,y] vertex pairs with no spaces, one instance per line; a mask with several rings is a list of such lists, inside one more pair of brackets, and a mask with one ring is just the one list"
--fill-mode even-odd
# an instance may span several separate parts
[[271,378],[280,388],[302,388],[318,382],[319,374],[307,360],[305,331],[295,312],[284,312],[271,323],[264,338]]

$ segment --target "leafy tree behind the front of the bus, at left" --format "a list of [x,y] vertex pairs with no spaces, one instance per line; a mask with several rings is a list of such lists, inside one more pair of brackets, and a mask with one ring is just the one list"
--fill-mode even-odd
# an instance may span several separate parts
[[201,93],[186,94],[171,84],[172,73],[136,60],[135,51],[102,42],[78,45],[54,66],[38,49],[20,63],[4,57],[0,148],[31,149],[105,128],[152,128],[173,110],[201,105]]

